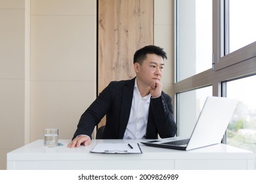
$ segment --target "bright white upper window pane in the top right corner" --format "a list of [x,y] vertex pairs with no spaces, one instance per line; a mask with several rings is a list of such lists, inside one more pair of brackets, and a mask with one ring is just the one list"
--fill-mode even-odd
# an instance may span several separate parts
[[255,7],[254,0],[229,1],[230,52],[256,41]]

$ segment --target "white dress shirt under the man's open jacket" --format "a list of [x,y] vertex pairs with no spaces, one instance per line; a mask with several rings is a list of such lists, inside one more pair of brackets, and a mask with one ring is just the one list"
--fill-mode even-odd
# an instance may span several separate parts
[[146,125],[148,123],[150,97],[150,94],[141,97],[137,87],[137,79],[135,78],[131,113],[123,139],[144,139],[146,135]]

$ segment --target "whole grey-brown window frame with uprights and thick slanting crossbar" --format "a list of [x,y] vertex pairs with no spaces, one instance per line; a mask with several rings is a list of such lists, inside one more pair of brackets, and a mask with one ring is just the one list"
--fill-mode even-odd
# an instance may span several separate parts
[[[177,1],[175,0],[174,18],[174,61],[175,82],[173,84],[175,118],[179,126],[177,105],[179,93],[196,90],[205,86],[213,87],[213,96],[225,97],[223,83],[245,76],[256,75],[256,42],[248,44],[239,50],[227,54],[228,50],[228,0],[213,0],[213,57],[212,69],[203,71],[177,82]],[[179,135],[179,131],[177,133]]]

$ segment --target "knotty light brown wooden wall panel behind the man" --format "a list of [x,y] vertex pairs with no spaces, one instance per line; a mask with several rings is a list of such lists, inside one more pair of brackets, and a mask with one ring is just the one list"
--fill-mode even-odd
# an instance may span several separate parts
[[133,54],[153,40],[154,0],[98,0],[98,92],[133,78]]

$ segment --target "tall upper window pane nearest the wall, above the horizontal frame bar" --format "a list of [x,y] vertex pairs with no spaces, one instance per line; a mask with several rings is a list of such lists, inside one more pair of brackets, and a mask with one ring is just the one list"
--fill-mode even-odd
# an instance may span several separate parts
[[211,68],[212,1],[177,1],[177,81]]

